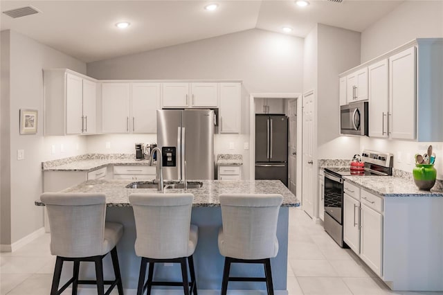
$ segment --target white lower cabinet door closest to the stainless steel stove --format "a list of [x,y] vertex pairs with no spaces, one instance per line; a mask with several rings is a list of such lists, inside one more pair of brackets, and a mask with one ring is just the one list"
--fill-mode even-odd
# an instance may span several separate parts
[[352,251],[360,251],[360,202],[343,194],[343,241]]

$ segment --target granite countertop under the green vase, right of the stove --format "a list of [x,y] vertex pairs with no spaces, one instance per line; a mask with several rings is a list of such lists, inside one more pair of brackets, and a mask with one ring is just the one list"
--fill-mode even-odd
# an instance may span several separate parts
[[419,190],[412,179],[402,177],[343,176],[343,178],[345,181],[361,186],[364,190],[382,197],[443,197],[443,190]]

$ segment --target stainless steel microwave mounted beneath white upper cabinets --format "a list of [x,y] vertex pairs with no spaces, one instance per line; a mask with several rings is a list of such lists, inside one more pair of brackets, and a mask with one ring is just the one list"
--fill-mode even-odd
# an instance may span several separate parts
[[368,136],[368,102],[352,102],[340,107],[340,133]]

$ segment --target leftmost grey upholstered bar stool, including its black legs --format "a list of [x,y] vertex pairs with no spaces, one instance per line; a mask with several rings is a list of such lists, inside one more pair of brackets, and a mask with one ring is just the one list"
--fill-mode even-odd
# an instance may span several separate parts
[[[51,295],[62,294],[72,283],[72,294],[78,284],[97,285],[98,295],[106,294],[117,285],[123,295],[116,244],[123,235],[123,225],[105,222],[106,197],[98,193],[44,193],[40,199],[48,210],[51,226],[51,253],[57,256]],[[103,279],[102,259],[111,252],[115,280]],[[64,261],[73,261],[73,277],[58,289]],[[93,261],[96,280],[79,280],[80,262]]]

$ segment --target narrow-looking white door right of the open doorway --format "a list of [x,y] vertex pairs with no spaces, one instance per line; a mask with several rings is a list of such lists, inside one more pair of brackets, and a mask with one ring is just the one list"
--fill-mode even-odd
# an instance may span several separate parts
[[314,91],[303,96],[302,208],[314,217]]

